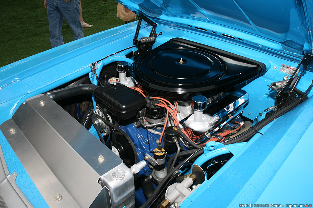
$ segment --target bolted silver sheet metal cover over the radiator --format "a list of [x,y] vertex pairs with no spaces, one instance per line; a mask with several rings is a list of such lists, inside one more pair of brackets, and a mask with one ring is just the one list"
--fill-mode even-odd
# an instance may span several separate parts
[[[126,166],[48,96],[26,100],[0,129],[50,207],[110,205],[100,176]],[[105,159],[99,161],[99,155]]]

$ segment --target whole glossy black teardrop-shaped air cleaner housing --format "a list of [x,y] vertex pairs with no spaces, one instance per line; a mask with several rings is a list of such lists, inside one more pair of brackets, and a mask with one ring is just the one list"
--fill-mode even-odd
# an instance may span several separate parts
[[265,72],[263,63],[181,38],[138,57],[131,75],[148,94],[190,101],[212,97]]

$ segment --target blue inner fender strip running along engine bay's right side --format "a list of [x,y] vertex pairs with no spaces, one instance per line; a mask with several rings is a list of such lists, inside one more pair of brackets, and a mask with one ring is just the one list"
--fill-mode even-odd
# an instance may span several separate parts
[[[252,138],[181,207],[202,207],[204,201],[206,207],[255,203],[311,125],[312,114],[313,99],[310,98],[270,123],[262,136],[257,134]],[[208,196],[214,197],[208,200]]]

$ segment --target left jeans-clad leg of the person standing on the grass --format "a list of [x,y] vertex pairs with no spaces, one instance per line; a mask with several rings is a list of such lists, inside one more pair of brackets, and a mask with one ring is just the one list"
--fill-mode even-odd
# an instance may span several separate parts
[[63,36],[61,33],[63,25],[63,16],[56,7],[58,1],[59,0],[47,0],[49,36],[52,48],[64,44]]

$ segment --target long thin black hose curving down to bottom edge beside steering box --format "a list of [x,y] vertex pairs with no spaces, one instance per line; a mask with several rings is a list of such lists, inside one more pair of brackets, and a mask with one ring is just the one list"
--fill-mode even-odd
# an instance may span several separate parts
[[199,157],[200,155],[203,154],[203,148],[202,150],[199,150],[198,152],[196,152],[194,155],[192,155],[191,157],[186,158],[184,161],[182,161],[181,163],[179,163],[176,167],[174,167],[174,169],[169,172],[167,174],[166,177],[163,178],[163,180],[161,181],[161,183],[156,187],[156,190],[153,192],[153,194],[151,195],[151,197],[143,204],[140,206],[140,208],[145,208],[146,206],[148,206],[154,199],[156,199],[156,197],[158,197],[158,194],[160,193],[160,191],[162,191],[162,189],[164,188],[164,186],[167,185],[167,183],[169,182],[169,179],[172,177],[172,175],[178,170],[180,169],[187,161],[193,160],[194,158]]

